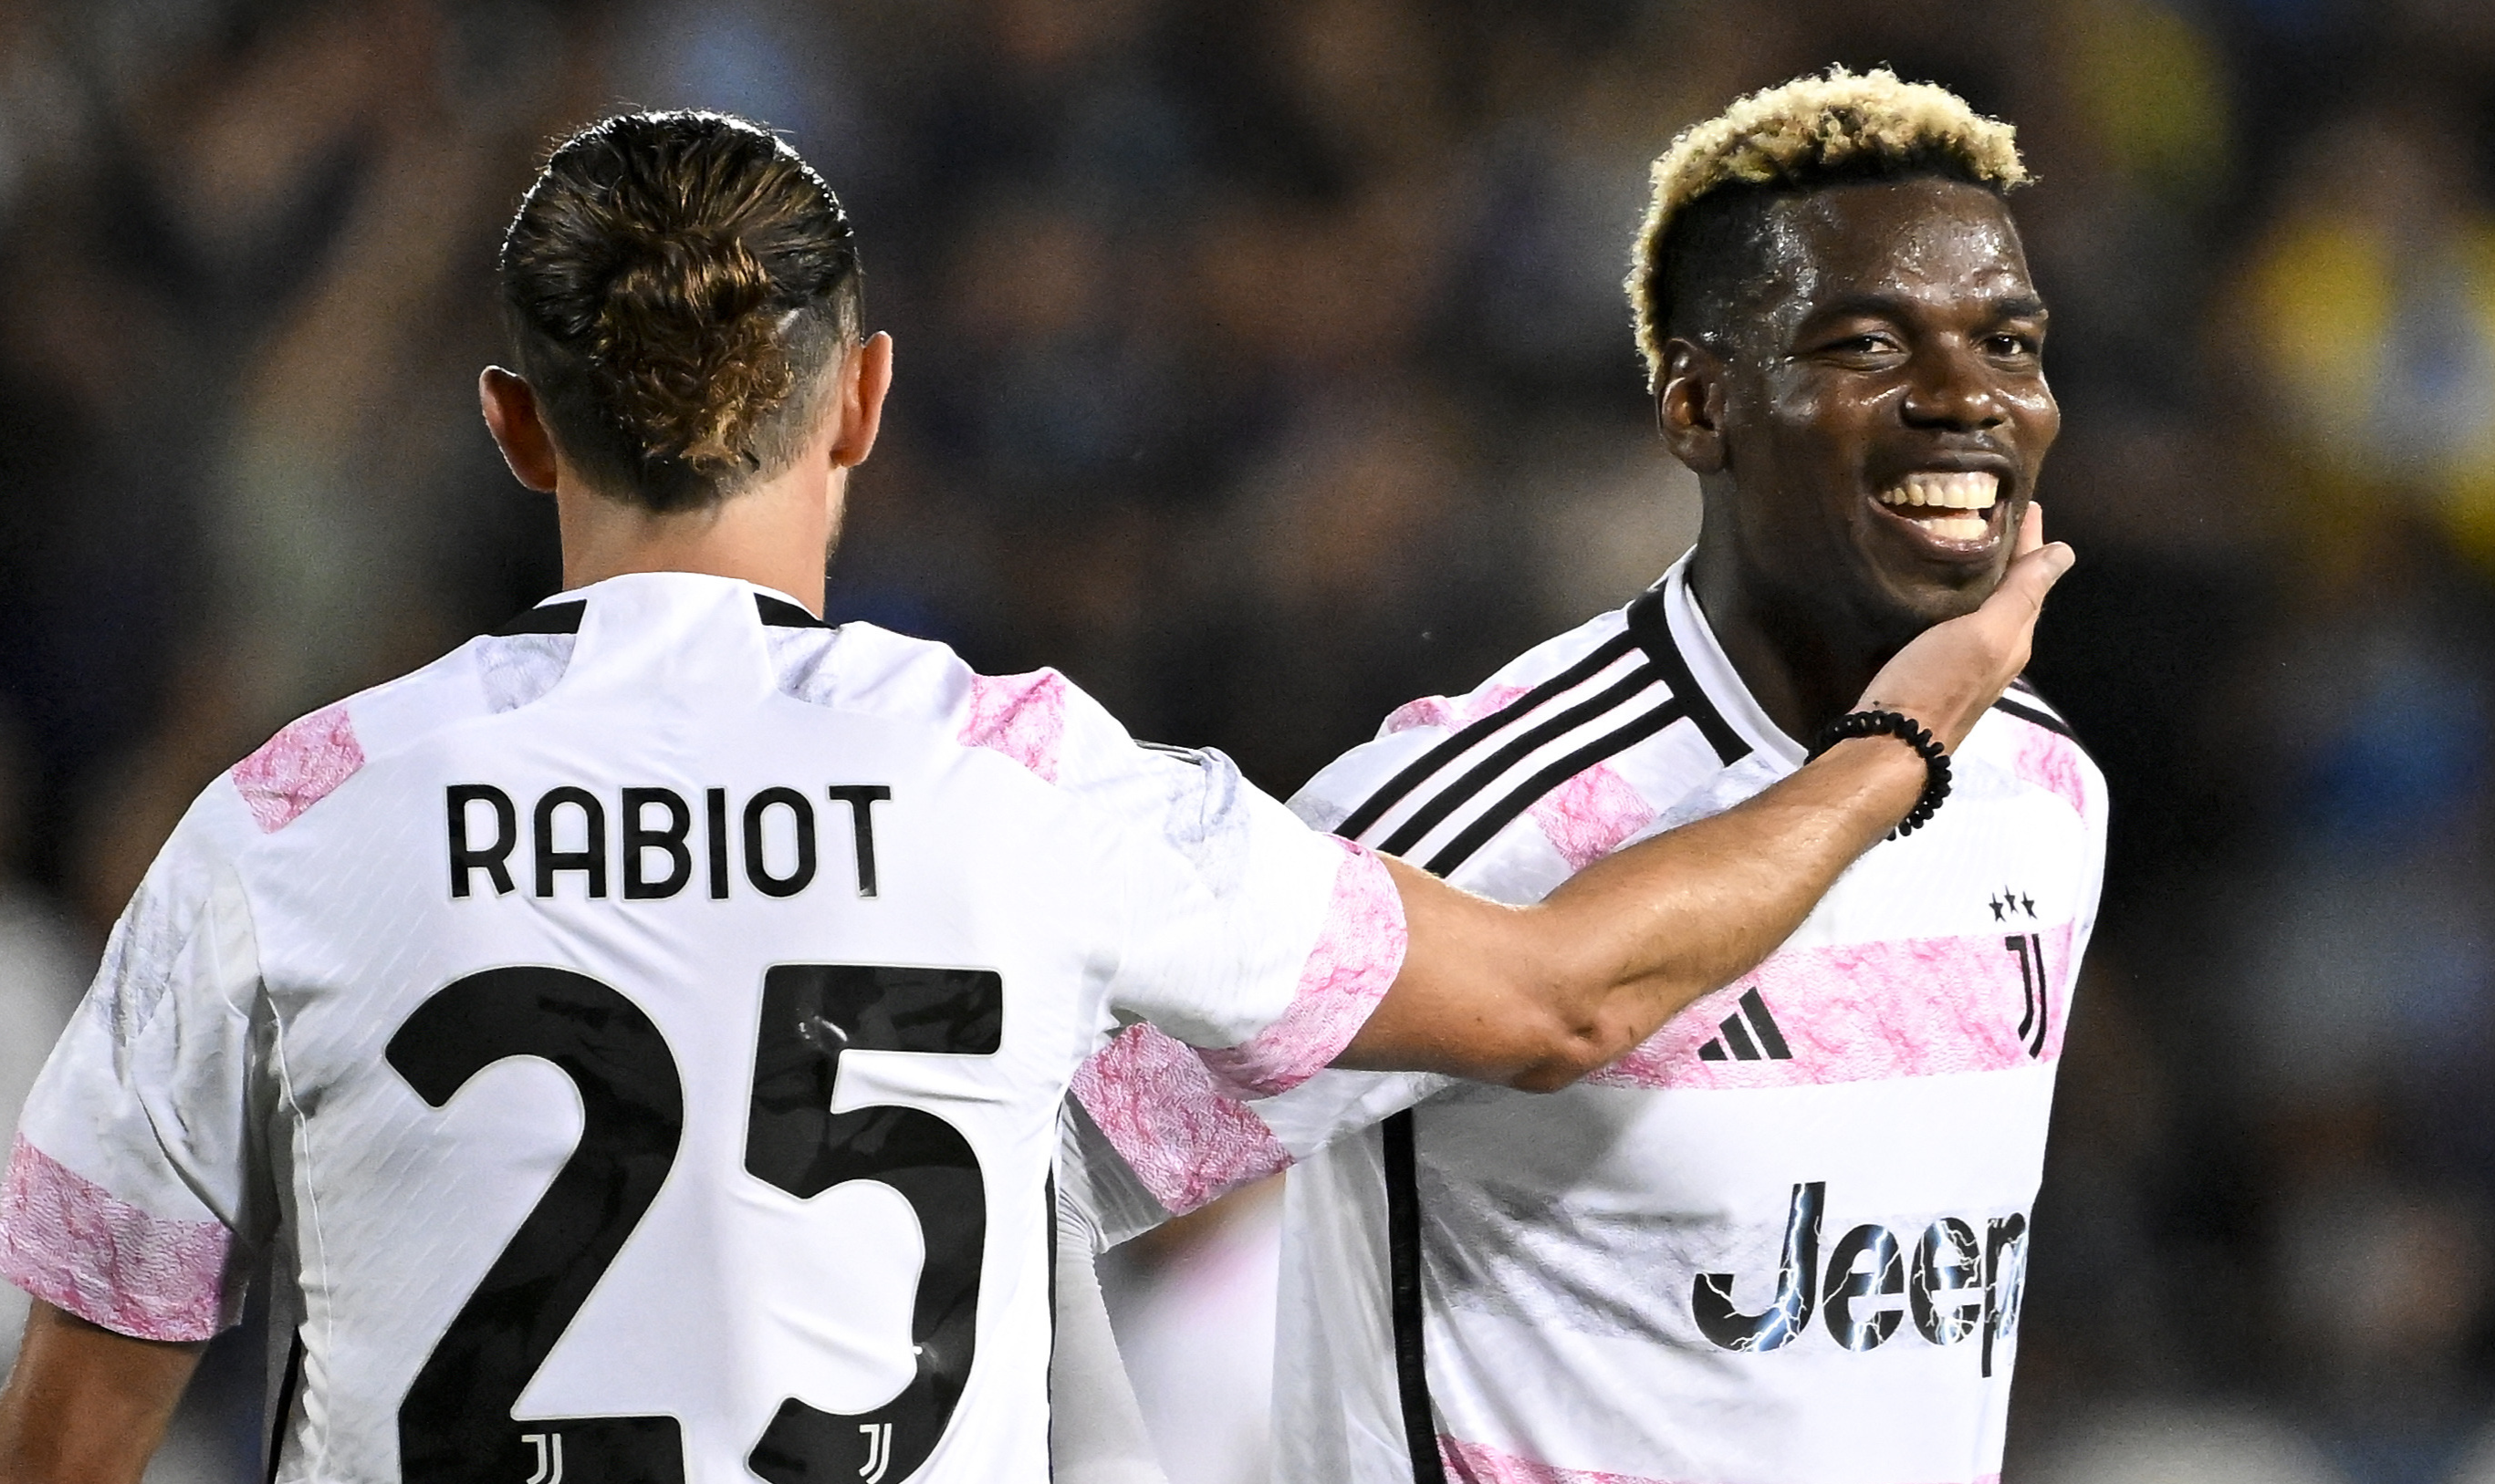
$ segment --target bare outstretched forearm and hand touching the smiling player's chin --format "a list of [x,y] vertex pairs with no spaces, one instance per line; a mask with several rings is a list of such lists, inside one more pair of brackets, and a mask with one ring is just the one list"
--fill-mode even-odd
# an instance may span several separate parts
[[[1904,711],[1956,748],[2021,668],[2046,589],[2071,566],[2041,516],[1984,606],[1924,631],[1864,708]],[[1846,741],[1749,803],[1669,831],[1509,908],[1390,863],[1410,948],[1335,1060],[1552,1090],[1627,1055],[1699,995],[1749,973],[1896,826],[1924,761]]]

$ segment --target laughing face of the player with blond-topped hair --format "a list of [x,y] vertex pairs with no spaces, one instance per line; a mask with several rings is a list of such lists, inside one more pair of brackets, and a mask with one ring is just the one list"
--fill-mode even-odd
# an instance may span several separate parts
[[1769,289],[1724,367],[1729,516],[1764,586],[1904,638],[2001,581],[2061,429],[2043,302],[1986,190],[1779,202]]

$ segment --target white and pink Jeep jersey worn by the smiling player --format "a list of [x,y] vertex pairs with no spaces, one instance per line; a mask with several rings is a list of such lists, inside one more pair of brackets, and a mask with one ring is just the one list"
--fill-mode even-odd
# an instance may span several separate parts
[[[1529,903],[1791,773],[1684,569],[1405,706],[1295,808]],[[2106,786],[2026,688],[1954,776],[1766,963],[1564,1092],[1235,1100],[1128,1030],[1075,1080],[1068,1195],[1118,1240],[1295,1165],[1287,1484],[1994,1479]]]

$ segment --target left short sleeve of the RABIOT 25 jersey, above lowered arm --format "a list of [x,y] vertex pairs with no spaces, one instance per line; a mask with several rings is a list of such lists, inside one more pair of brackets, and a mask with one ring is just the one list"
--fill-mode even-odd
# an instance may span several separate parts
[[257,945],[195,823],[112,928],[0,1177],[0,1274],[137,1339],[230,1327],[237,1232],[267,1215],[250,1132]]

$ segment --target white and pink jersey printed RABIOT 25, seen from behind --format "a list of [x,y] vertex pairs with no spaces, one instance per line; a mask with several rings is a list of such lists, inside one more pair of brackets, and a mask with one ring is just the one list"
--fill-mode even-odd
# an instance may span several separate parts
[[1068,1077],[1292,1087],[1400,960],[1375,855],[1053,671],[621,576],[200,796],[0,1270],[202,1339],[274,1255],[277,1479],[1038,1482]]

